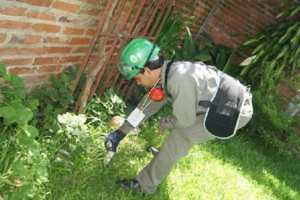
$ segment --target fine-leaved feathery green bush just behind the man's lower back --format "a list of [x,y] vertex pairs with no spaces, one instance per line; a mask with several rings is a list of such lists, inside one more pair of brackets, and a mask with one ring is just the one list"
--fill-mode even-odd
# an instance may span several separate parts
[[249,122],[248,132],[276,147],[279,153],[291,154],[293,149],[299,151],[297,119],[286,113],[287,100],[275,85],[274,78],[271,75],[264,78],[267,86],[258,87],[252,92],[254,115]]

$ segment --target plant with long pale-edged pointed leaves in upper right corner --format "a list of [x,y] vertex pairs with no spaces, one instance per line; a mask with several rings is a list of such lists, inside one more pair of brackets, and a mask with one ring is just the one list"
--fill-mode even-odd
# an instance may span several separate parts
[[[298,1],[287,0],[285,4],[290,7],[278,17],[285,13],[289,13],[288,17],[299,13]],[[263,85],[265,83],[263,71],[266,66],[272,69],[271,73],[275,80],[278,80],[279,76],[285,74],[286,71],[289,72],[289,76],[293,76],[300,66],[300,21],[288,19],[270,25],[263,32],[244,42],[243,46],[243,50],[254,48],[251,55],[255,55],[240,73],[247,82],[256,86]]]

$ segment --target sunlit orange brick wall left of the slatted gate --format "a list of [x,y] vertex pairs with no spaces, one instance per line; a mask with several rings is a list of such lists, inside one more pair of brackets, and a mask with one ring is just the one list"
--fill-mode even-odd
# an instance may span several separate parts
[[105,0],[0,0],[0,61],[28,87],[79,65]]

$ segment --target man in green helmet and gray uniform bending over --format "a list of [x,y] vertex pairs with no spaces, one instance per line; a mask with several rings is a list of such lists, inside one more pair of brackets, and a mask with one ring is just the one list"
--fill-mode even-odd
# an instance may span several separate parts
[[[158,56],[159,47],[137,38],[122,51],[118,68],[127,80],[151,88],[125,123],[104,142],[116,151],[126,133],[156,113],[167,101],[172,114],[159,121],[158,131],[170,129],[161,148],[136,179],[118,180],[126,190],[152,194],[178,160],[195,144],[229,138],[252,116],[249,88],[202,62],[169,62]],[[161,87],[161,89],[157,89]]]

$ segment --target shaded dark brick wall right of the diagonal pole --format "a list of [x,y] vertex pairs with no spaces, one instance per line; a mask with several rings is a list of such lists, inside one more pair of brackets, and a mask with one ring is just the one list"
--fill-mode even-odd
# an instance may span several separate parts
[[[278,20],[284,0],[221,0],[204,27],[204,34],[217,44],[235,48]],[[232,36],[238,34],[237,36]]]

